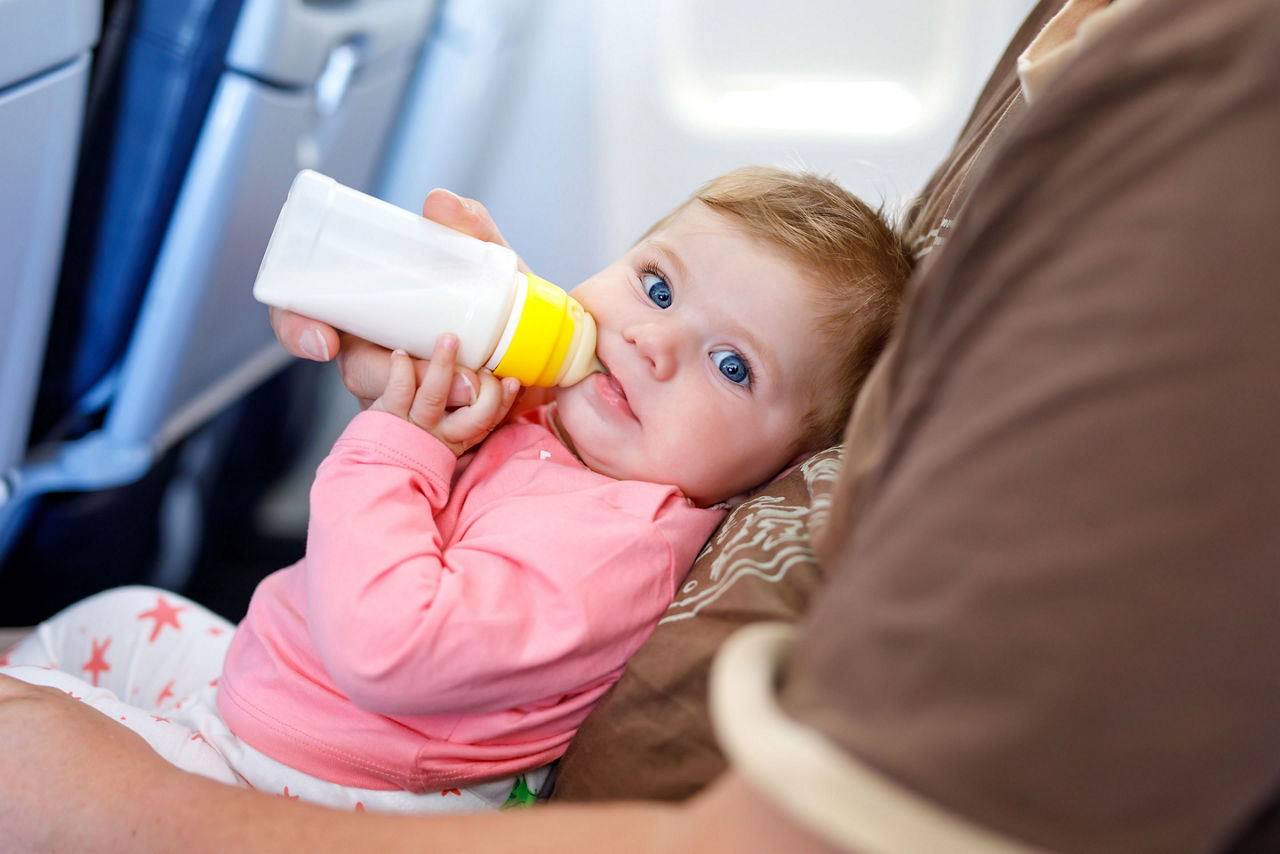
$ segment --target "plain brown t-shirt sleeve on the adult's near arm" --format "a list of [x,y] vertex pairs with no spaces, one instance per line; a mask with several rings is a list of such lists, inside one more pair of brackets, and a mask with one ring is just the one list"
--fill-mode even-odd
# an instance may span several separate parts
[[1222,850],[1274,799],[1277,141],[1280,5],[1147,0],[986,157],[785,673],[886,789],[1064,851]]

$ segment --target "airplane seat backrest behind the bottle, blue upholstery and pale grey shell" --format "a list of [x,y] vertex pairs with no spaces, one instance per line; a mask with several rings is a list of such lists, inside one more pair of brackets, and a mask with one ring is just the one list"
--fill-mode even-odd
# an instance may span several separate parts
[[[138,0],[88,287],[68,296],[82,314],[60,330],[73,356],[52,378],[67,380],[58,406],[93,417],[46,416],[47,440],[0,504],[0,556],[32,499],[136,481],[285,364],[251,294],[274,219],[301,168],[370,186],[433,10]],[[170,136],[189,136],[187,151]]]

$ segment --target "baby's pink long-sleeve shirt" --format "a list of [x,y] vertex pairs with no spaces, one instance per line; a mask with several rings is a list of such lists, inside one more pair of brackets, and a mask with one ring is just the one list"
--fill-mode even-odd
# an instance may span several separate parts
[[722,517],[586,469],[545,408],[461,460],[362,412],[316,472],[306,557],[253,594],[218,709],[253,748],[348,786],[434,791],[541,766]]

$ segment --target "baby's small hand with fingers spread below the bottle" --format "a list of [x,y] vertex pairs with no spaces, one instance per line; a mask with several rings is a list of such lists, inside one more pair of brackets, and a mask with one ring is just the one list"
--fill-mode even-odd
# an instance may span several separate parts
[[457,355],[457,337],[440,335],[431,351],[422,384],[417,385],[413,360],[404,351],[397,350],[392,353],[387,388],[369,408],[390,412],[416,424],[448,446],[456,456],[462,455],[479,444],[507,416],[520,393],[520,380],[509,376],[499,380],[490,371],[480,370],[476,374],[480,388],[471,405],[449,410],[447,403]]

